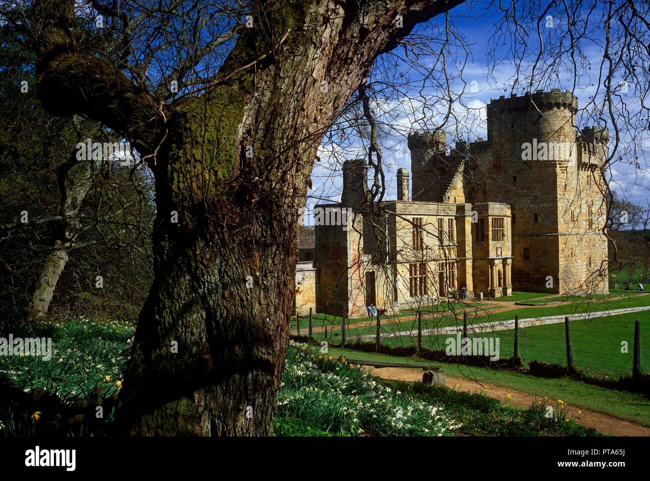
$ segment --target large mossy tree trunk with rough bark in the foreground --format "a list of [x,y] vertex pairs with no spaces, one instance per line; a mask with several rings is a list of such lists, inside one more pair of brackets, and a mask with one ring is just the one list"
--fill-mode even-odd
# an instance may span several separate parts
[[[129,432],[272,432],[298,209],[317,146],[377,55],[458,3],[256,2],[222,77],[164,121],[103,59],[63,48],[74,44],[60,19],[64,10],[72,22],[72,2],[48,3],[59,20],[42,26],[39,91],[53,94],[45,107],[72,106],[126,131],[155,173],[155,280],[119,411]],[[80,76],[79,65],[103,76]]]

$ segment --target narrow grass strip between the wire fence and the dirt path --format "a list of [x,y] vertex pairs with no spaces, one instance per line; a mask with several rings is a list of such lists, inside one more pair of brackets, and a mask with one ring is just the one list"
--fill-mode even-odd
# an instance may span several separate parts
[[561,399],[569,405],[586,407],[593,411],[607,413],[620,419],[628,419],[643,426],[650,426],[650,400],[638,394],[614,391],[603,387],[581,383],[569,378],[546,379],[514,371],[500,371],[463,364],[445,364],[426,359],[404,358],[374,353],[361,353],[349,349],[330,349],[332,355],[343,355],[350,359],[377,360],[394,363],[426,363],[441,366],[448,376],[477,379],[528,392],[538,397]]

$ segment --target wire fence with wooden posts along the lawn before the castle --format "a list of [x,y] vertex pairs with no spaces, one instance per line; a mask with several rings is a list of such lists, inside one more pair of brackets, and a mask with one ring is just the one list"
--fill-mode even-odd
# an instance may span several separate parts
[[[465,311],[467,312],[467,310]],[[314,342],[326,342],[334,346],[350,346],[358,342],[377,344],[383,351],[410,348],[417,351],[419,339],[421,348],[429,351],[445,351],[450,355],[458,350],[458,334],[465,334],[471,346],[487,346],[498,350],[499,359],[513,357],[515,349],[524,365],[532,361],[568,366],[567,328],[564,317],[546,321],[543,325],[519,325],[515,331],[513,320],[493,320],[485,323],[489,311],[476,309],[467,312],[467,326],[463,328],[461,312],[443,310],[441,312],[422,312],[421,322],[418,314],[405,314],[402,317],[379,316],[380,339],[377,344],[377,323],[374,318],[344,318],[343,316],[312,316],[311,338]],[[640,372],[650,372],[650,311],[601,316],[588,319],[569,320],[571,362],[591,376],[609,378],[632,376],[634,374],[634,350],[638,350]],[[560,316],[558,316],[560,317]],[[489,318],[489,314],[487,315]],[[635,341],[635,323],[641,318],[638,339]],[[309,317],[299,316],[300,335],[309,335]],[[343,329],[343,320],[345,329]],[[519,322],[531,322],[521,319]],[[296,322],[293,323],[297,327]],[[480,342],[474,342],[478,338]],[[516,342],[515,342],[516,339]],[[497,342],[498,340],[498,342]],[[492,344],[490,344],[492,342]],[[515,348],[517,344],[517,348]],[[491,347],[490,347],[491,346]],[[476,355],[470,352],[469,355]]]

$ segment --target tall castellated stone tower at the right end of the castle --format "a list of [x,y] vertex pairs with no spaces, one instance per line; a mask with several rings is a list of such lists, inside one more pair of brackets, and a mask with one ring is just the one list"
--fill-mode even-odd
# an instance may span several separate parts
[[517,290],[607,292],[599,169],[607,134],[587,128],[578,137],[577,109],[560,89],[502,96],[487,105],[487,141],[470,146],[469,200],[512,206]]

